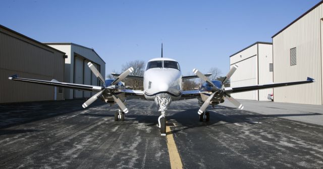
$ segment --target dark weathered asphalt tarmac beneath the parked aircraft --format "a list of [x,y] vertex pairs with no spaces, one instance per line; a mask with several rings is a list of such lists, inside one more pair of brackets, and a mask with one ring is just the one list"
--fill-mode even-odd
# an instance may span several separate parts
[[[154,102],[128,101],[126,120],[117,122],[116,106],[97,101],[83,109],[83,102],[0,105],[0,168],[171,168],[170,140],[159,135]],[[295,104],[304,107],[298,114],[293,104],[243,104],[258,103],[264,108],[209,107],[210,121],[199,122],[197,100],[173,102],[167,134],[178,162],[184,168],[322,168],[323,126],[286,118],[322,118],[313,110],[323,107]],[[266,107],[275,112],[264,114]]]

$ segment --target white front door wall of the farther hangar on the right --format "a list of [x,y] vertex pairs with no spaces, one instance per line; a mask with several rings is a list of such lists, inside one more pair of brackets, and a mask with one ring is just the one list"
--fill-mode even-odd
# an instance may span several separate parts
[[[241,57],[240,57],[241,56]],[[230,68],[238,64],[238,69],[230,78],[231,87],[257,85],[257,44],[230,57]],[[232,94],[236,99],[258,100],[258,91]]]

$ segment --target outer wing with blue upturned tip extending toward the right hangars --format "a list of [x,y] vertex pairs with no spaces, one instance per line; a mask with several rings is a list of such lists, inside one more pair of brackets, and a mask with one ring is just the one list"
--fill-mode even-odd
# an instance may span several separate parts
[[294,82],[283,82],[283,83],[272,83],[268,85],[255,85],[255,86],[246,86],[246,87],[236,87],[236,88],[225,88],[224,91],[226,93],[239,93],[239,92],[247,92],[247,91],[254,91],[259,89],[267,89],[267,88],[277,88],[277,87],[284,87],[290,85],[299,85],[304,83],[311,83],[315,80],[313,78],[307,77],[305,81],[294,81]]

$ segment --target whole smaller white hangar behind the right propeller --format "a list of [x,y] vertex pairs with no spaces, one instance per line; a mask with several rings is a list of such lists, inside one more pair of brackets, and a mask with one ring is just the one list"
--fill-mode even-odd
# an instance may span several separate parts
[[[273,44],[255,42],[230,56],[230,68],[238,69],[230,78],[231,87],[263,85],[273,82]],[[235,99],[267,101],[273,89],[232,94]]]

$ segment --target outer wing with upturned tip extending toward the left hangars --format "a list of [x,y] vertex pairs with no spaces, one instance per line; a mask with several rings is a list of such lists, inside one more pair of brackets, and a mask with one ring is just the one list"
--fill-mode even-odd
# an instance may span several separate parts
[[30,83],[38,83],[38,84],[41,84],[41,85],[77,89],[77,90],[82,90],[82,91],[90,91],[90,92],[100,92],[102,90],[102,87],[99,87],[99,86],[79,85],[79,84],[75,84],[75,83],[66,83],[66,82],[57,81],[55,79],[52,79],[51,81],[46,81],[46,80],[37,80],[37,79],[30,79],[30,78],[20,78],[17,75],[10,76],[9,79],[17,80],[17,81],[30,82]]

